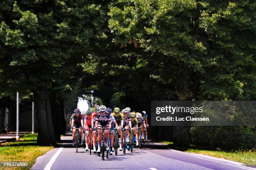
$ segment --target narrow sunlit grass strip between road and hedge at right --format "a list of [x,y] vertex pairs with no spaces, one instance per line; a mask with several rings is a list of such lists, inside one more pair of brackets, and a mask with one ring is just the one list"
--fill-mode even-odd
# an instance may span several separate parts
[[209,148],[196,147],[195,145],[189,145],[189,147],[177,147],[177,146],[174,146],[173,142],[168,142],[168,141],[162,141],[161,143],[164,143],[168,147],[175,150],[209,155],[212,157],[224,158],[226,160],[233,160],[236,162],[241,162],[245,165],[256,167],[256,152],[253,150],[223,151],[223,150],[220,150],[220,148],[211,150]]

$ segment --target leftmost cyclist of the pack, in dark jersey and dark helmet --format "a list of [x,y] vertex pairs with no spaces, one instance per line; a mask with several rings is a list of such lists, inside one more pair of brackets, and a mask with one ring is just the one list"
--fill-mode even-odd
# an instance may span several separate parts
[[[84,128],[84,124],[83,124],[83,119],[82,119],[82,115],[79,109],[74,109],[74,114],[72,115],[72,122],[71,122],[71,127],[74,128]],[[76,129],[72,129],[73,133],[72,133],[72,139],[73,139],[73,146],[75,143],[75,136],[76,136]],[[82,129],[79,129],[79,142],[82,142],[82,134],[83,131]]]

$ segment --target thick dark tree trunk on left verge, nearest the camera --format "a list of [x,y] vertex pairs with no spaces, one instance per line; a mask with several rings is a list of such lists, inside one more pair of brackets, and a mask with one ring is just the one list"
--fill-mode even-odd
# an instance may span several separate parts
[[34,93],[36,103],[36,119],[38,122],[38,144],[55,144],[53,123],[51,118],[51,106],[48,95]]

